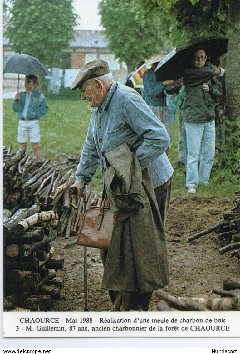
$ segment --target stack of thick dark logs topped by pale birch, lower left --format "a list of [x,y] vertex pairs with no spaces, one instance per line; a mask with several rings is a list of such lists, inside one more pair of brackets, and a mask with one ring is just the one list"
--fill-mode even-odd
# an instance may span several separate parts
[[53,259],[50,245],[58,234],[55,211],[39,212],[35,204],[18,210],[4,221],[4,308],[47,311],[54,299],[61,299],[61,280],[56,271],[63,259]]

